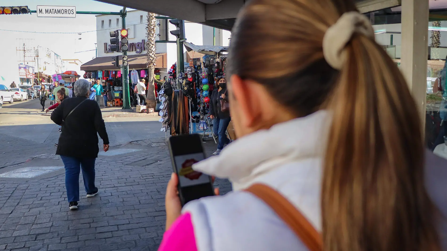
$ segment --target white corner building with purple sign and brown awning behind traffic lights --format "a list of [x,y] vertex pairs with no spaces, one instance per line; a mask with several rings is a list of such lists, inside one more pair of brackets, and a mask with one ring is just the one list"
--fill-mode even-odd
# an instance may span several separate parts
[[[127,12],[126,29],[128,30],[129,50],[129,71],[132,69],[146,69],[146,26],[147,12],[133,10]],[[168,32],[166,27],[168,26]],[[121,17],[117,15],[98,15],[96,16],[97,28],[97,58],[84,63],[81,66],[83,71],[98,70],[118,70],[113,62],[113,56],[121,55],[121,52],[111,52],[110,50],[110,31],[120,30],[122,28]],[[175,29],[165,19],[157,19],[156,40],[171,40],[175,37],[169,33],[169,30]],[[168,33],[168,38],[166,38]],[[228,46],[229,31],[214,29],[212,27],[186,22],[185,23],[186,41],[195,45],[215,45]],[[186,50],[185,50],[186,51]],[[156,44],[157,63],[156,68],[160,71],[167,71],[173,63],[177,61],[177,48],[174,43]],[[186,60],[186,58],[185,58]],[[121,63],[121,60],[120,60]]]

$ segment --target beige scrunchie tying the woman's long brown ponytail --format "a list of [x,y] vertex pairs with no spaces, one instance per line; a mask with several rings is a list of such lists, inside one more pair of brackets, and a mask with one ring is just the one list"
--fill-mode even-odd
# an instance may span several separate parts
[[356,11],[347,12],[329,27],[323,38],[323,54],[331,67],[341,70],[346,61],[345,46],[354,33],[374,39],[374,29],[367,17]]

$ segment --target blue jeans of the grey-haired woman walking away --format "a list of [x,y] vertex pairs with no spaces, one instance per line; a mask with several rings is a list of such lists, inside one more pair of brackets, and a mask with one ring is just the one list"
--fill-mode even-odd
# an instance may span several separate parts
[[65,188],[68,202],[79,201],[79,173],[82,169],[85,192],[95,193],[95,160],[96,158],[76,158],[60,155],[65,166]]

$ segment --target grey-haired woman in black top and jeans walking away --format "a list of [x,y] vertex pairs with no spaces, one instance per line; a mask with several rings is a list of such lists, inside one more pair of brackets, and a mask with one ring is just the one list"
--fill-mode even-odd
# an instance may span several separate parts
[[102,138],[104,151],[109,150],[109,137],[105,130],[101,109],[90,100],[90,84],[79,79],[75,84],[76,97],[67,98],[51,113],[51,120],[62,125],[56,154],[65,166],[65,187],[70,209],[78,208],[79,173],[82,169],[87,197],[98,193],[95,186],[95,160],[98,157],[98,137]]

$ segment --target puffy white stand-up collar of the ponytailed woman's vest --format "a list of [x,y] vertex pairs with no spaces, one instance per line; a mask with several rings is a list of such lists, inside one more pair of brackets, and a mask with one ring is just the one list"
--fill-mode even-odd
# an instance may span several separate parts
[[193,169],[232,182],[244,189],[257,176],[302,159],[324,154],[331,117],[325,110],[295,118],[239,138],[219,155],[202,160]]

